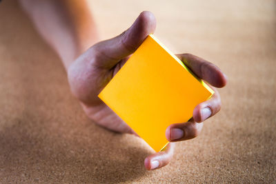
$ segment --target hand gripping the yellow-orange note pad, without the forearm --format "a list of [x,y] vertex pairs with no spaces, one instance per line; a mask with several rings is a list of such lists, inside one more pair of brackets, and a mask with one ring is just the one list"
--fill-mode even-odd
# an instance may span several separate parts
[[[97,95],[119,69],[126,63],[130,54],[141,45],[148,34],[155,31],[155,17],[150,12],[141,12],[132,26],[119,36],[101,41],[70,65],[68,80],[77,99],[88,117],[99,125],[116,132],[135,134]],[[212,63],[199,59],[191,54],[179,54],[178,57],[188,67],[210,85],[223,87],[226,85],[226,76]],[[213,88],[215,90],[215,88]],[[173,124],[166,130],[168,141],[184,141],[192,139],[201,131],[204,121],[216,114],[220,109],[219,93],[215,90],[212,99],[197,105],[193,112],[193,120],[188,123]],[[209,111],[210,110],[210,111]],[[164,152],[157,152],[145,159],[145,167],[153,170],[167,165],[172,159],[174,143],[169,143]]]

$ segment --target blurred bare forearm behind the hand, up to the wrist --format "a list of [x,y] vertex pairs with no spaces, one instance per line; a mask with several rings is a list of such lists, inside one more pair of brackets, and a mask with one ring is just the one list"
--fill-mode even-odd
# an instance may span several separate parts
[[19,0],[35,28],[59,54],[66,70],[98,39],[85,0]]

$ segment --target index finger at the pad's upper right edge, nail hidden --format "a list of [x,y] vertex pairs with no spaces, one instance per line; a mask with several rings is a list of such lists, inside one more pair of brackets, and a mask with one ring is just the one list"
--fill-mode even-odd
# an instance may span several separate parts
[[194,56],[193,54],[177,54],[177,57],[188,65],[200,79],[204,79],[211,85],[222,88],[227,83],[227,76],[221,70],[204,59]]

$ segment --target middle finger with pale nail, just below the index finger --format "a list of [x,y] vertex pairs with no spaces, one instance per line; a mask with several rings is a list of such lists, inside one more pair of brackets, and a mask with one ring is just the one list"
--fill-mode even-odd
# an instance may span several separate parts
[[215,91],[212,98],[208,101],[199,103],[193,110],[193,119],[195,122],[202,122],[208,119],[210,116],[214,116],[221,109],[221,99],[219,92],[215,88],[212,88]]

